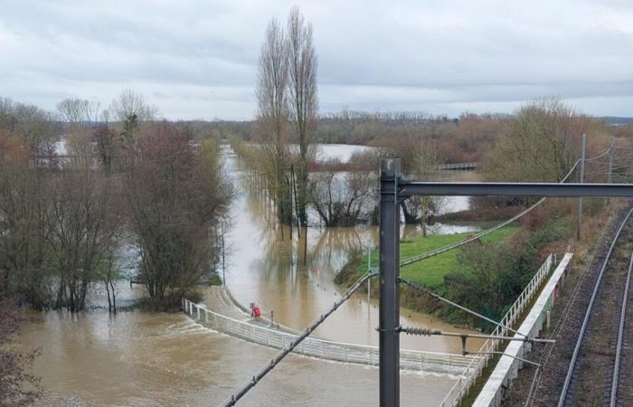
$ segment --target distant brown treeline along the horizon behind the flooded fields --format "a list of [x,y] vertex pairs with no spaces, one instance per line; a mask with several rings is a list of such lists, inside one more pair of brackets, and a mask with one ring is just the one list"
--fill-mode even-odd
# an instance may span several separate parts
[[[463,113],[458,118],[432,116],[424,112],[364,112],[343,109],[322,114],[316,126],[316,142],[354,144],[411,150],[411,142],[433,140],[442,161],[448,163],[481,161],[495,140],[513,130],[514,114]],[[633,124],[627,118],[590,118],[594,128],[611,137],[633,137]],[[231,135],[251,140],[255,121],[191,122],[198,137],[226,139]],[[292,138],[292,135],[291,135]]]

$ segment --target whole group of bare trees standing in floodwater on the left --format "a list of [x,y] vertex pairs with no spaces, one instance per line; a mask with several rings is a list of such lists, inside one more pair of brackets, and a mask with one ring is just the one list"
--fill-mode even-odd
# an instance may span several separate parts
[[[97,282],[116,310],[121,247],[157,307],[213,270],[232,190],[213,140],[156,119],[131,91],[108,109],[0,101],[0,270],[33,308],[86,307]],[[131,277],[131,276],[128,276]]]

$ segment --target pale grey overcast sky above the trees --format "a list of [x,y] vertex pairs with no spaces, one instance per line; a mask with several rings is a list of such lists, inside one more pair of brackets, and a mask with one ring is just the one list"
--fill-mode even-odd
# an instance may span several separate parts
[[558,96],[633,116],[633,0],[0,0],[0,97],[142,92],[165,118],[250,119],[266,24],[314,24],[322,112],[508,112]]

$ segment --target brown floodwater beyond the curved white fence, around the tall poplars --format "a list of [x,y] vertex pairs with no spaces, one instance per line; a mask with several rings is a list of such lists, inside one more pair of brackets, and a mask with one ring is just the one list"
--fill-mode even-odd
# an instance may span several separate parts
[[[338,270],[345,265],[350,251],[366,251],[377,247],[375,226],[308,228],[307,260],[304,261],[303,239],[299,241],[295,229],[293,241],[289,229],[284,228],[281,240],[279,227],[275,226],[274,208],[245,180],[241,166],[231,151],[225,151],[227,166],[236,180],[245,185],[232,213],[232,227],[226,237],[228,255],[226,262],[227,286],[232,295],[244,306],[256,303],[264,314],[274,313],[281,325],[302,329],[337,298],[344,289],[335,285]],[[446,205],[449,210],[468,209],[467,197],[455,197]],[[241,211],[240,208],[248,208]],[[436,224],[430,232],[469,232],[472,226]],[[302,230],[302,232],[304,232]],[[417,227],[402,228],[403,236],[417,235]],[[373,284],[377,284],[374,280]],[[455,331],[435,317],[402,308],[402,325],[433,327],[443,331]],[[350,298],[326,322],[316,328],[315,336],[355,343],[378,344],[378,308],[375,300],[367,303],[366,294]],[[433,352],[460,353],[459,338],[443,336],[402,336],[402,347]],[[479,342],[472,342],[475,349]],[[470,347],[470,346],[469,346]]]

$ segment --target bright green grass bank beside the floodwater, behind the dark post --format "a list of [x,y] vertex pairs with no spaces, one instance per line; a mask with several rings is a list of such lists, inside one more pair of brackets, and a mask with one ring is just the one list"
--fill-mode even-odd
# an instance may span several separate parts
[[[520,226],[505,226],[496,232],[492,232],[483,237],[483,241],[488,243],[496,243],[502,241],[505,237],[518,232]],[[434,251],[440,247],[463,241],[472,236],[472,232],[454,233],[454,234],[435,234],[427,237],[416,237],[400,242],[400,258],[407,259],[416,254],[427,251]],[[444,276],[449,271],[458,269],[458,249],[447,251],[430,259],[420,260],[401,269],[403,279],[409,279],[417,283],[423,284],[430,288],[439,287]],[[378,251],[372,251],[372,266],[378,267]],[[358,265],[358,273],[363,274],[367,269],[367,255],[364,254]]]

